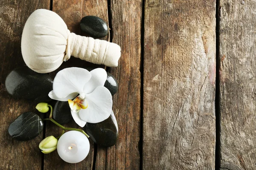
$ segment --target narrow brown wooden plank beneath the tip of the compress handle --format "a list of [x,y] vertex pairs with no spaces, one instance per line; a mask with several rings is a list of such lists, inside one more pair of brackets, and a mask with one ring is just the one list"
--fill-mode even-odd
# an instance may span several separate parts
[[[109,4],[110,5],[110,4]],[[117,68],[110,72],[119,82],[113,96],[119,139],[113,147],[98,147],[96,170],[140,169],[140,90],[142,0],[111,0],[113,42],[121,46]]]

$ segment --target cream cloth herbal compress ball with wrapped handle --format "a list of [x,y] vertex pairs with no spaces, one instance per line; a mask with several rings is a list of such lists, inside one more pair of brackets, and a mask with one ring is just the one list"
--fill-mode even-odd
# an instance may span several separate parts
[[56,70],[70,56],[116,67],[120,51],[115,43],[70,33],[61,17],[46,9],[38,9],[29,16],[21,38],[23,59],[38,73]]

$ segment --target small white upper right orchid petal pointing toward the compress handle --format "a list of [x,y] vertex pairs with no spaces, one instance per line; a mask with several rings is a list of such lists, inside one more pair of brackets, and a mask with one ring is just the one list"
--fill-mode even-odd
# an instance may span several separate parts
[[95,90],[98,86],[104,86],[107,79],[107,72],[103,68],[96,68],[90,71],[91,78],[84,85],[84,93],[90,94]]

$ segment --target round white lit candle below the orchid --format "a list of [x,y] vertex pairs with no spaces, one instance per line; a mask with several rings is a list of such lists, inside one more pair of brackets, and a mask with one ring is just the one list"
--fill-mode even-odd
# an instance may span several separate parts
[[89,150],[89,140],[79,131],[68,131],[58,140],[58,155],[68,163],[78,163],[84,160]]

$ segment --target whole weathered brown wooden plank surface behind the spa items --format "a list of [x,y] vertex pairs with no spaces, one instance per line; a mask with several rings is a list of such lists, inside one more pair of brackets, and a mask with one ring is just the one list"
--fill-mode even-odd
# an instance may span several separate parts
[[[4,82],[25,65],[20,38],[38,8],[76,34],[82,17],[101,17],[110,28],[104,39],[122,49],[119,66],[107,68],[119,82],[119,140],[109,148],[91,142],[77,164],[39,150],[45,136],[61,133],[51,123],[27,142],[7,131],[21,113],[36,112]],[[0,169],[255,170],[255,16],[256,0],[0,0]],[[86,65],[73,57],[57,71]]]

